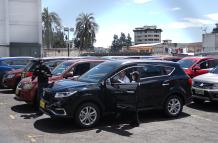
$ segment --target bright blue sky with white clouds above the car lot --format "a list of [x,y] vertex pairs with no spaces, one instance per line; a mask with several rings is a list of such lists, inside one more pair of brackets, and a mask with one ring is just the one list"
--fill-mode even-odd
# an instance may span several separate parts
[[218,0],[42,0],[42,9],[56,12],[64,26],[74,28],[80,13],[93,13],[99,25],[95,46],[105,48],[121,32],[134,41],[133,30],[145,25],[161,28],[162,40],[201,42],[202,33],[218,23],[217,5]]

